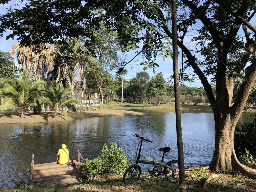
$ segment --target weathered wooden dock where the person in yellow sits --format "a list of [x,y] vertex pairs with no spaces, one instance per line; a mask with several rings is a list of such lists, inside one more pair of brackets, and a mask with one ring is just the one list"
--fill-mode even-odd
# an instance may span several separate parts
[[82,181],[82,171],[78,169],[77,165],[80,165],[81,156],[79,150],[78,159],[73,160],[76,166],[59,165],[52,163],[43,163],[34,165],[34,154],[32,155],[31,167],[30,167],[30,187],[41,186],[54,186],[54,185],[67,185],[71,183],[77,183]]

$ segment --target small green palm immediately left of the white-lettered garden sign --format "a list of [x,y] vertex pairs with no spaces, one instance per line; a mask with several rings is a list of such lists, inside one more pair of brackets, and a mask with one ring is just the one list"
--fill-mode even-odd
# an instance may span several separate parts
[[54,107],[54,118],[57,118],[58,111],[61,109],[61,115],[63,115],[63,107],[77,112],[74,104],[78,103],[78,99],[70,97],[71,89],[69,87],[61,88],[59,84],[52,84],[49,88],[49,101]]

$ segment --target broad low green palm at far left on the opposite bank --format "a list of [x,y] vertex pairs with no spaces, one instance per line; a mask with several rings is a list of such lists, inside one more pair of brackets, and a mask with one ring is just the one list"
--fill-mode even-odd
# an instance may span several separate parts
[[43,95],[47,94],[47,90],[42,86],[43,83],[44,81],[38,79],[32,84],[28,73],[20,75],[20,79],[4,79],[0,90],[0,97],[4,97],[3,109],[13,104],[19,105],[21,118],[25,118],[25,106],[41,105]]

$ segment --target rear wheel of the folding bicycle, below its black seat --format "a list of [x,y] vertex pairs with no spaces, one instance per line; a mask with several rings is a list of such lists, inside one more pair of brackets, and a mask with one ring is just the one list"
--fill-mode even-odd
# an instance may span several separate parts
[[177,160],[169,161],[167,163],[168,166],[171,167],[167,168],[165,167],[165,177],[168,181],[178,181],[179,180],[179,163]]

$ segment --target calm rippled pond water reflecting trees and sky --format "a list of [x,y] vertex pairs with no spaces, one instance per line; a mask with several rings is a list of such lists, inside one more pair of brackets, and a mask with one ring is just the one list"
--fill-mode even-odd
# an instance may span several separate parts
[[[77,159],[76,150],[84,158],[101,154],[105,142],[116,142],[134,161],[138,140],[137,132],[153,143],[143,143],[142,157],[160,160],[160,147],[171,147],[165,161],[177,159],[175,113],[168,110],[136,110],[141,116],[91,117],[73,122],[20,124],[0,126],[0,170],[3,171],[5,187],[14,186],[13,181],[27,178],[32,154],[35,164],[54,162],[62,143],[70,151],[70,159]],[[250,114],[243,113],[240,122],[247,121]],[[214,151],[214,119],[210,112],[181,114],[185,166],[205,165],[211,161]],[[21,134],[27,133],[27,134]],[[152,168],[142,166],[143,170]],[[1,178],[0,178],[1,182]]]

